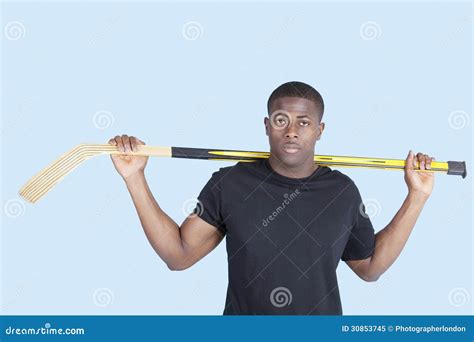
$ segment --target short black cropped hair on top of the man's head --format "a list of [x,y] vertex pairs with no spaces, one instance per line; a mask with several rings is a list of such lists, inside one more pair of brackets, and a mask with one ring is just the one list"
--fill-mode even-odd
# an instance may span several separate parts
[[324,101],[321,94],[314,89],[309,84],[298,82],[298,81],[291,81],[287,83],[283,83],[282,85],[278,86],[270,97],[268,98],[267,103],[267,111],[268,115],[270,115],[270,107],[276,99],[280,97],[301,97],[310,101],[313,101],[316,104],[316,107],[320,109],[319,113],[319,121],[323,119],[324,114]]

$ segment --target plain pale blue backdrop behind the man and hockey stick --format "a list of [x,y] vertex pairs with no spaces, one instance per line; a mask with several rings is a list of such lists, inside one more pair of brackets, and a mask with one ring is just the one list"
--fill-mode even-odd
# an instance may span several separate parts
[[[109,157],[36,205],[21,201],[31,176],[81,142],[127,133],[155,146],[268,151],[267,98],[299,80],[326,104],[317,154],[405,159],[413,149],[469,168],[472,18],[470,3],[447,2],[2,3],[1,312],[222,313],[225,243],[169,271]],[[183,205],[229,165],[155,158],[146,175],[181,223]],[[385,227],[407,193],[403,172],[340,170]],[[340,263],[345,314],[472,314],[471,175],[436,176],[377,282]]]

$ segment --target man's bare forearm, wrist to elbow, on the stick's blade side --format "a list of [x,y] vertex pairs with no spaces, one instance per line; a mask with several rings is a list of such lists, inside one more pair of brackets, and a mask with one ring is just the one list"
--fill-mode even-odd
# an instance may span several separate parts
[[156,202],[144,173],[125,180],[145,235],[156,253],[170,267],[183,258],[179,226]]

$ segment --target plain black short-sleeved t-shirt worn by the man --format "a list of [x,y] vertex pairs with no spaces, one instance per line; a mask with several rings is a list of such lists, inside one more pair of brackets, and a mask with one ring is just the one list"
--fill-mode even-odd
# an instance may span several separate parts
[[373,254],[372,223],[354,182],[319,166],[290,178],[268,159],[220,168],[198,215],[226,234],[224,315],[341,315],[339,260]]

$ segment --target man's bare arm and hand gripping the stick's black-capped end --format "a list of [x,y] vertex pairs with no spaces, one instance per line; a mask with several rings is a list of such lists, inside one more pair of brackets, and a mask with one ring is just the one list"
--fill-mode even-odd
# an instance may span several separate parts
[[429,170],[434,159],[423,153],[415,156],[410,151],[408,154],[404,171],[408,195],[400,210],[384,229],[375,234],[375,249],[370,258],[346,261],[360,278],[376,281],[400,255],[434,185],[433,172],[415,171],[414,167],[419,164],[421,170]]

